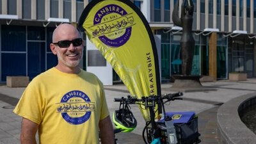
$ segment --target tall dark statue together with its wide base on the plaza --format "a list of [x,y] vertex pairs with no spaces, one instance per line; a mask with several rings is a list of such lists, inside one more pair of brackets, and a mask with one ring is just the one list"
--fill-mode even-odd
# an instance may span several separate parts
[[202,76],[191,76],[191,69],[194,56],[195,40],[192,35],[194,5],[192,0],[183,0],[181,5],[181,17],[179,18],[179,0],[175,4],[172,13],[172,20],[176,26],[182,27],[180,38],[180,49],[182,59],[182,75],[173,75],[175,79],[171,90],[175,92],[196,92],[215,90],[205,88],[200,83]]

